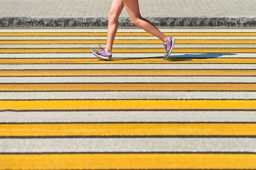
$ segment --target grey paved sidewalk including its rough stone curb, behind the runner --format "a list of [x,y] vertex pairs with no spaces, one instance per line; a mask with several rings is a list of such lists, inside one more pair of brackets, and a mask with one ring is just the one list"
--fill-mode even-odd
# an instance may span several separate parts
[[[0,0],[0,26],[105,27],[112,0]],[[156,26],[256,26],[256,0],[139,0]],[[119,26],[133,26],[126,10]]]

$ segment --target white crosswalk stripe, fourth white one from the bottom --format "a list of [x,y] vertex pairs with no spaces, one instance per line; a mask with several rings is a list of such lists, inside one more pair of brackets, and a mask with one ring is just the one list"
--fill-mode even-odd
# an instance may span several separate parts
[[256,83],[256,76],[0,77],[1,83]]

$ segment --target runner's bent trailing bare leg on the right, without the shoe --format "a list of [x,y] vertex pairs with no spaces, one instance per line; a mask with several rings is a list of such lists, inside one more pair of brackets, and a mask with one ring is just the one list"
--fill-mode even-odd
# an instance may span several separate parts
[[166,35],[159,31],[159,29],[157,29],[150,21],[141,17],[138,0],[123,0],[123,3],[130,16],[132,24],[139,26],[141,29],[144,29],[148,33],[159,38],[164,43],[168,41]]

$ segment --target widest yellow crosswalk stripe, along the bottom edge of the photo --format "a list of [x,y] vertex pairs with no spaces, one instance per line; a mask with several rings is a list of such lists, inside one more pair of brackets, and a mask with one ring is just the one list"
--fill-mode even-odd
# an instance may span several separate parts
[[0,170],[256,169],[256,154],[8,154],[0,159]]

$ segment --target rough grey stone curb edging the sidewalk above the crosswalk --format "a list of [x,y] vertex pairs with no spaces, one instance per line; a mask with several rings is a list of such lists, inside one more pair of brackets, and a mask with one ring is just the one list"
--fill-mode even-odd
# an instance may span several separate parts
[[[145,17],[155,26],[256,26],[255,17]],[[107,27],[108,18],[0,18],[1,27]],[[119,18],[120,27],[134,26],[128,17]]]

